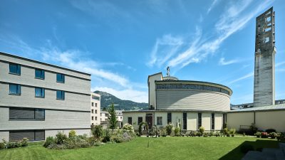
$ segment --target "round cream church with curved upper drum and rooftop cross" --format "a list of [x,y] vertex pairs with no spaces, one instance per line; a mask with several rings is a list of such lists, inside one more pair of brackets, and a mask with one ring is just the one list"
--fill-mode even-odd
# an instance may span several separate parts
[[140,122],[150,127],[165,127],[172,123],[182,130],[221,130],[230,110],[232,90],[212,82],[178,80],[169,73],[149,75],[149,110],[125,111],[123,122],[138,129]]

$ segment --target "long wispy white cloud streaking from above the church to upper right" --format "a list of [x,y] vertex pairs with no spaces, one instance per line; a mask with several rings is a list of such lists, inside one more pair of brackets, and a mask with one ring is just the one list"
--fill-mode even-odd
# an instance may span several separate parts
[[[170,53],[171,51],[171,57],[167,57],[167,62],[160,61],[159,65],[162,65],[162,63],[164,63],[163,65],[169,65],[174,68],[175,72],[175,70],[180,70],[190,63],[201,62],[209,54],[217,53],[217,50],[229,36],[244,28],[249,20],[257,16],[261,11],[264,11],[272,1],[262,1],[256,6],[252,5],[249,7],[251,3],[252,0],[244,0],[231,1],[228,5],[225,5],[223,14],[219,17],[217,23],[214,23],[214,31],[212,33],[203,33],[202,28],[197,26],[192,41],[184,41],[185,46],[189,44],[187,48],[177,49],[177,46],[166,48],[168,51],[165,52]],[[163,48],[160,48],[160,50],[163,50]],[[156,50],[156,54],[151,53],[153,62],[156,62],[157,57],[163,57],[158,55],[160,50]]]

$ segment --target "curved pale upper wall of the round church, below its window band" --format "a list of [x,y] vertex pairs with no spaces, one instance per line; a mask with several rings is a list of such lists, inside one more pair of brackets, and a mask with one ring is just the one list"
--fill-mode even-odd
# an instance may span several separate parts
[[229,110],[229,95],[197,90],[157,90],[159,110]]

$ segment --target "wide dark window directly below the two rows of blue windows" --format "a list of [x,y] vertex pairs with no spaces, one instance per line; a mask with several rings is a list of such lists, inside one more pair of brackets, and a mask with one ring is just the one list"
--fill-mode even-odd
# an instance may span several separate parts
[[10,107],[9,119],[45,119],[45,110],[37,108]]

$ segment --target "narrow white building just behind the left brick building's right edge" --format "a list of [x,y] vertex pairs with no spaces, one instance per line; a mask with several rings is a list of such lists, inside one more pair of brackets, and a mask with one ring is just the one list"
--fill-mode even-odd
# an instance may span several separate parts
[[90,112],[91,112],[91,125],[99,125],[100,124],[100,95],[91,92],[91,104],[90,104]]

